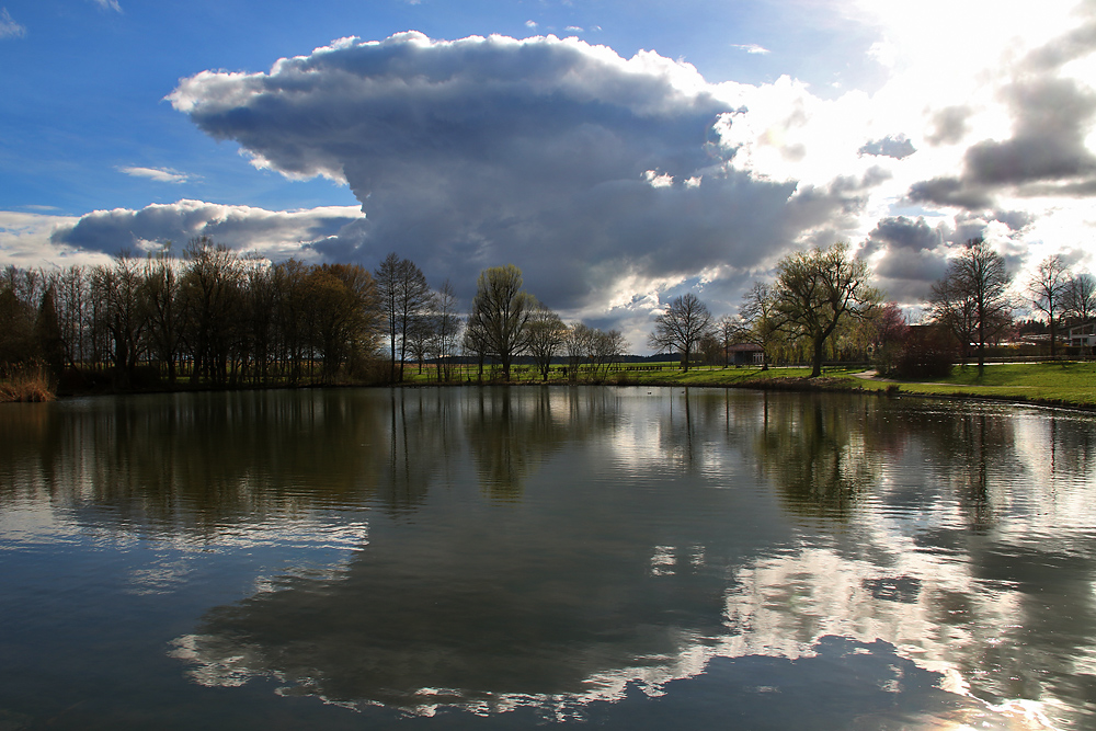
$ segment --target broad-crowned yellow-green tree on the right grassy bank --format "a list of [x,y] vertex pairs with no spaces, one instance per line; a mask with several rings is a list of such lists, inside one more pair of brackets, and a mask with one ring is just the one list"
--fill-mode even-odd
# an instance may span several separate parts
[[822,375],[826,340],[842,320],[864,317],[879,300],[868,283],[867,264],[848,255],[838,241],[798,252],[777,264],[774,300],[779,327],[811,344],[811,378]]

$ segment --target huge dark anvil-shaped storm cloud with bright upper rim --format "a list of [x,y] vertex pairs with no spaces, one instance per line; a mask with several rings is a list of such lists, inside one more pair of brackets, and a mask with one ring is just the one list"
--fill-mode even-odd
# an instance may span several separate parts
[[655,54],[409,33],[270,73],[203,72],[170,99],[263,164],[347,182],[368,219],[317,243],[324,255],[372,265],[395,250],[465,296],[511,262],[566,310],[604,306],[624,282],[769,262],[850,221],[883,179],[797,187],[728,171],[707,142],[737,106],[712,89]]

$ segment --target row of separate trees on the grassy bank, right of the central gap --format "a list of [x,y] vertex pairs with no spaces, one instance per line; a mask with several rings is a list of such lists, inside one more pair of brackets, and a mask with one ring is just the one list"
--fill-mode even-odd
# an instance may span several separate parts
[[1096,278],[1061,255],[1043,260],[1024,285],[1013,279],[1004,256],[970,239],[932,286],[924,320],[910,325],[898,305],[869,285],[866,263],[836,243],[781,259],[775,281],[755,283],[734,315],[715,319],[695,295],[676,298],[655,318],[649,344],[681,353],[686,369],[693,353],[727,365],[735,347],[749,345],[763,366],[806,362],[812,376],[826,358],[872,362],[881,372],[920,378],[944,376],[957,362],[975,359],[981,368],[987,347],[1018,338],[1014,317],[1026,308],[1046,318],[1052,357],[1063,328],[1096,317]]

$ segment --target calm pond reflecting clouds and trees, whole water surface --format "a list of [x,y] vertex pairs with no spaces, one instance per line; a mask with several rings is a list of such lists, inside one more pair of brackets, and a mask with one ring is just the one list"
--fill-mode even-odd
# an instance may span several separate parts
[[0,729],[1096,728],[1096,419],[681,389],[0,407]]

